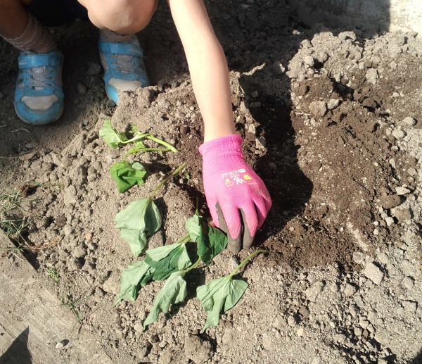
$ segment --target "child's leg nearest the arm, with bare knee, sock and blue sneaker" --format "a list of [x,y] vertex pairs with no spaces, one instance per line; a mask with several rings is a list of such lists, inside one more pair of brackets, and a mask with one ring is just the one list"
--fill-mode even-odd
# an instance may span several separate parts
[[78,0],[100,28],[101,63],[107,96],[118,102],[122,91],[135,91],[149,84],[143,51],[134,33],[148,25],[157,0]]

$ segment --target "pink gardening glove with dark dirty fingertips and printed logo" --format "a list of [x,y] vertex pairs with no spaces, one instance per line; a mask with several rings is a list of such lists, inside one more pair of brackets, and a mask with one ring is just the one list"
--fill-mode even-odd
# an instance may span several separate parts
[[267,188],[246,164],[241,144],[242,138],[231,134],[199,147],[208,208],[215,225],[228,233],[234,253],[250,248],[271,208]]

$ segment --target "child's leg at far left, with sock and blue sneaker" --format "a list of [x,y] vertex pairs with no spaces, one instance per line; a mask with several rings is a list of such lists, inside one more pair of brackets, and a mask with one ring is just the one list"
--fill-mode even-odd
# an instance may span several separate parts
[[30,0],[1,0],[0,35],[20,50],[14,106],[25,123],[43,125],[63,112],[63,55],[49,30],[27,13]]

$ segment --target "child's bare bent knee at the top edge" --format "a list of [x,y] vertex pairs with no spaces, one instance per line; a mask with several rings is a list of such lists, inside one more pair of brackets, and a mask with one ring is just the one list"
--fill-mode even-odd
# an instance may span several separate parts
[[79,0],[92,23],[121,34],[134,34],[150,22],[158,0]]

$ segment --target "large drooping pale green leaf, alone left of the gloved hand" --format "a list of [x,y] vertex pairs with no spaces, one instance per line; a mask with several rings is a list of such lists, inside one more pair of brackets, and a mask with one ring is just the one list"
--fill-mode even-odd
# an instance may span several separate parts
[[140,256],[146,249],[148,237],[161,227],[161,215],[154,201],[149,197],[134,201],[115,215],[115,227],[120,237],[127,241],[134,256]]

